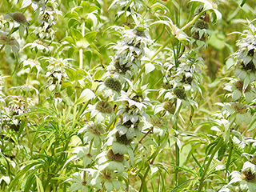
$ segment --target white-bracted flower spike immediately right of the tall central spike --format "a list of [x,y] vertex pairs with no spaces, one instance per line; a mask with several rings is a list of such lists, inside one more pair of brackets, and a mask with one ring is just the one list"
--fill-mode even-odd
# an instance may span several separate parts
[[199,84],[202,78],[203,60],[194,51],[183,53],[178,58],[178,67],[175,65],[174,54],[163,65],[164,86],[159,91],[159,97],[164,94],[165,102],[154,108],[154,114],[163,111],[172,118],[176,111],[175,103],[183,103],[184,106],[196,105],[193,99],[197,91],[202,93]]

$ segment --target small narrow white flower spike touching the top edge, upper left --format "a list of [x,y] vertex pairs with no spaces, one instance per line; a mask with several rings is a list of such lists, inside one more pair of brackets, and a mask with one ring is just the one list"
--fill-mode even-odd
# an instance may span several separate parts
[[38,35],[41,39],[53,39],[55,30],[53,26],[56,25],[58,16],[62,12],[57,9],[58,3],[55,0],[50,0],[46,3],[46,8],[41,9],[41,14],[38,22],[41,24],[34,30],[34,34]]

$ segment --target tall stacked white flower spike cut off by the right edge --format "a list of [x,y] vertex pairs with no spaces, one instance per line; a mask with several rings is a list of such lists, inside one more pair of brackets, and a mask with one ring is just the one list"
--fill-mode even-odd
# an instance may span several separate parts
[[249,125],[252,120],[251,106],[246,103],[252,102],[256,95],[253,83],[256,80],[255,34],[256,28],[249,22],[248,30],[243,31],[242,39],[237,42],[238,50],[233,54],[235,78],[230,78],[230,82],[226,83],[224,87],[225,90],[230,91],[230,94],[227,95],[232,96],[234,102],[226,103],[222,112],[227,112],[227,118],[237,125],[242,122]]

